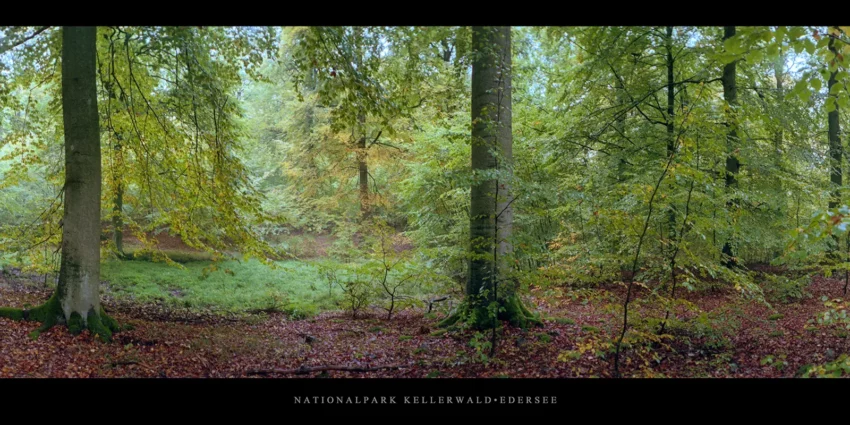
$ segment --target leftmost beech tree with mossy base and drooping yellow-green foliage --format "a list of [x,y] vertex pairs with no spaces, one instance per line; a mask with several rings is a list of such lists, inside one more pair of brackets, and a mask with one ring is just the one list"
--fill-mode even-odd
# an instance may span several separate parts
[[[31,35],[21,32],[12,31],[14,38],[0,42],[0,53],[22,46],[19,57],[31,61],[16,63],[11,80],[25,89],[38,80],[55,90],[65,151],[64,182],[56,197],[61,202],[54,203],[64,208],[51,206],[42,213],[46,237],[37,237],[28,249],[57,244],[61,258],[56,290],[43,305],[4,307],[0,316],[41,322],[38,332],[56,324],[74,333],[89,329],[104,340],[118,329],[99,296],[102,132],[110,141],[106,187],[111,189],[112,242],[119,254],[125,188],[133,183],[131,200],[146,210],[144,227],[134,230],[146,245],[152,242],[144,238],[145,230],[167,227],[189,246],[218,254],[214,259],[239,246],[244,254],[267,260],[270,248],[251,227],[266,216],[236,155],[238,109],[230,92],[241,82],[240,69],[254,74],[252,65],[263,60],[260,52],[271,45],[268,40],[257,42],[260,37],[251,31],[226,28],[43,27]],[[61,68],[59,81],[53,80],[54,67]],[[3,100],[7,106],[8,99]],[[26,128],[19,133],[6,140],[31,137]],[[15,166],[26,172],[39,161],[45,160]],[[4,177],[9,180],[8,174]],[[61,239],[51,233],[49,220],[60,212]]]

